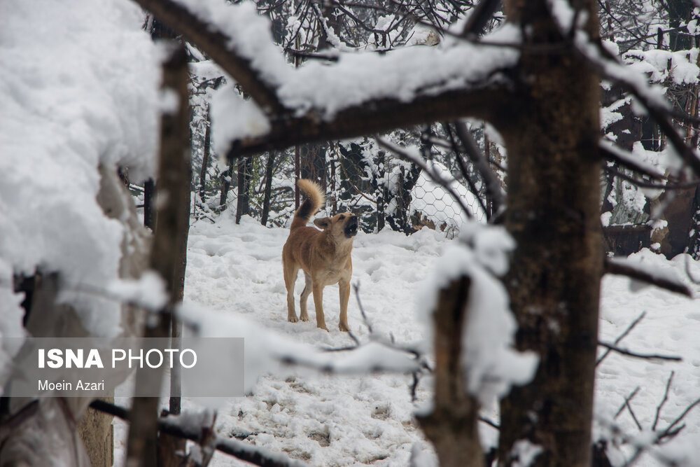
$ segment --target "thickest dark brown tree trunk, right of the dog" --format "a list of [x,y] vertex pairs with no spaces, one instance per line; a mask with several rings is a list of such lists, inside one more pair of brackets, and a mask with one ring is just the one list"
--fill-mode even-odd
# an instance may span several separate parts
[[[517,242],[507,287],[517,347],[540,356],[530,384],[501,404],[499,465],[514,446],[541,449],[532,465],[588,467],[603,247],[598,214],[598,76],[563,43],[547,1],[507,1],[526,34],[521,96],[500,130],[508,150],[506,226]],[[597,36],[596,2],[574,2]],[[503,125],[505,123],[505,125]],[[523,446],[523,444],[520,444]]]

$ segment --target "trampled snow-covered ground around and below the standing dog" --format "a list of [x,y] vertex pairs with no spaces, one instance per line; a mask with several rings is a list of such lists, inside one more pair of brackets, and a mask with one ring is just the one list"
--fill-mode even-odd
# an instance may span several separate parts
[[[286,229],[265,228],[251,218],[235,225],[227,213],[215,224],[204,220],[195,223],[190,229],[186,303],[222,314],[244,314],[265,328],[308,344],[352,344],[346,333],[337,330],[337,286],[325,288],[324,293],[330,333],[316,329],[313,316],[305,323],[286,321],[281,248],[287,235]],[[393,336],[397,342],[421,339],[423,330],[415,317],[416,294],[449,242],[454,240],[427,228],[410,237],[389,231],[378,235],[360,232],[353,249],[353,283],[360,286],[360,300],[375,333]],[[681,258],[667,261],[649,251],[633,257],[681,275],[685,267]],[[700,276],[700,265],[692,263],[692,268]],[[300,275],[297,296],[302,283]],[[700,293],[698,286],[693,287]],[[312,307],[309,312],[313,314]],[[650,428],[668,375],[674,371],[668,401],[657,424],[657,428],[664,428],[700,397],[700,307],[696,301],[657,288],[632,291],[626,278],[605,278],[601,340],[614,341],[641,312],[646,312],[645,319],[620,346],[643,353],[679,355],[683,361],[647,361],[610,354],[598,367],[596,411],[603,419],[612,419],[624,398],[640,386],[631,407],[641,426]],[[349,323],[360,340],[367,339],[368,330],[354,295]],[[411,383],[410,375],[339,377],[308,370],[292,377],[265,376],[255,386],[253,396],[232,398],[221,405],[217,430],[223,436],[285,452],[309,466],[407,466],[414,445],[433,456],[412,418],[430,400],[430,383],[427,379],[421,382],[416,402],[411,400]],[[196,407],[186,401],[185,409]],[[484,415],[494,418],[493,407]],[[639,433],[629,411],[622,412],[615,423],[625,433]],[[700,407],[689,412],[683,423],[686,426],[680,435],[664,449],[685,452],[682,465],[700,465]],[[493,429],[483,428],[484,439],[493,442]],[[596,432],[601,429],[596,426]],[[118,424],[118,454],[123,454],[125,430],[125,425]],[[212,465],[247,464],[216,454]],[[661,464],[644,456],[636,465]]]

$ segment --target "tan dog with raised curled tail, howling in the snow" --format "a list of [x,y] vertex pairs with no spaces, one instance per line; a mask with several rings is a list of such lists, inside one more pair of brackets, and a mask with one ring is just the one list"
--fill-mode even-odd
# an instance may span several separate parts
[[357,216],[349,213],[336,214],[314,221],[314,225],[322,230],[307,227],[309,219],[316,214],[325,199],[321,188],[312,181],[301,179],[299,188],[308,198],[295,212],[289,237],[282,249],[284,284],[287,288],[287,319],[292,323],[298,321],[294,311],[294,283],[301,268],[304,270],[306,285],[299,300],[299,319],[309,321],[306,305],[309,293],[313,292],[316,326],[328,330],[323,316],[323,287],[337,283],[340,288],[338,327],[342,331],[348,331],[348,300],[352,275],[350,252],[353,239],[357,235]]

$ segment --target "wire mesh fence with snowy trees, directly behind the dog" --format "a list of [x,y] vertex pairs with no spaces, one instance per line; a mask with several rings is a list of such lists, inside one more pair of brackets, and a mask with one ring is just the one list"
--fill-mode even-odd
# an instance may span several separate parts
[[[232,209],[238,217],[288,226],[296,205],[295,180],[300,177],[313,179],[325,190],[322,213],[353,212],[365,232],[389,228],[410,234],[430,228],[451,238],[470,218],[485,218],[477,195],[443,162],[428,161],[426,172],[379,150],[372,140],[291,148],[244,158],[228,168],[205,160],[209,166],[204,172],[203,159],[195,154],[195,216],[213,217]],[[450,190],[435,177],[449,181]],[[301,193],[298,202],[303,199]]]

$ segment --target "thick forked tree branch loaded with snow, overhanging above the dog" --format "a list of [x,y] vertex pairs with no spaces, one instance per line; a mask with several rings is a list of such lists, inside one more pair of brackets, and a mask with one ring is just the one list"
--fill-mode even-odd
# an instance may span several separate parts
[[[240,122],[235,129],[216,125],[214,139],[228,148],[229,159],[435,120],[488,119],[494,102],[509,102],[505,76],[519,57],[516,48],[499,46],[519,43],[519,32],[501,27],[489,34],[489,46],[463,40],[384,55],[340,53],[333,64],[309,62],[295,69],[273,43],[269,22],[251,4],[137,2],[209,54],[269,120],[268,127],[256,125],[252,132]],[[246,113],[260,120],[259,109],[256,115]]]

